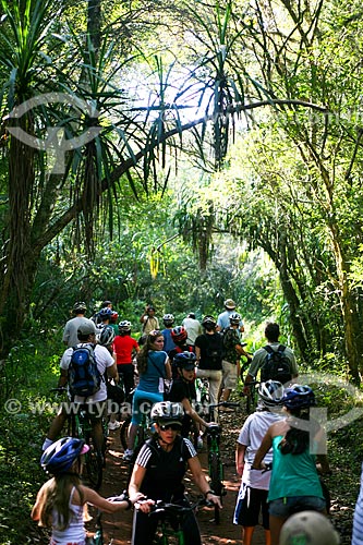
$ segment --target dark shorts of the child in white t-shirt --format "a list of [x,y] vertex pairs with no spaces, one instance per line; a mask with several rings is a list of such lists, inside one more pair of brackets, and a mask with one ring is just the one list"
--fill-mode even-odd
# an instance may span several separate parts
[[262,513],[263,526],[269,530],[269,514],[267,495],[268,491],[243,486],[243,495],[235,506],[234,522],[241,526],[256,526],[259,512]]

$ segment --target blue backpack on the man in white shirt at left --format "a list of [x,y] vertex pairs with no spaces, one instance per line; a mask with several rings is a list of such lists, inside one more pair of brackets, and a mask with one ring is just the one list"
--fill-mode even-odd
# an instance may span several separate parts
[[94,344],[73,347],[68,378],[72,396],[87,398],[99,390],[102,376],[97,367]]

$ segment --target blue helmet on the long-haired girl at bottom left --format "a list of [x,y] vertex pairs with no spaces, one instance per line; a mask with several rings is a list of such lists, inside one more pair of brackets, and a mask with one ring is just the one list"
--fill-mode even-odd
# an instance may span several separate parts
[[74,437],[63,437],[43,452],[40,465],[47,473],[59,475],[66,473],[78,458],[89,450],[88,445],[85,445],[83,439]]

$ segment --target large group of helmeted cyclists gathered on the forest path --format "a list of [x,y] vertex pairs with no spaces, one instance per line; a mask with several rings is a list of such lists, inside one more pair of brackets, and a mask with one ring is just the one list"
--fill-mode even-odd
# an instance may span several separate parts
[[[102,306],[100,313],[110,316],[108,311],[104,311],[108,308],[112,312],[110,302],[106,303],[108,304]],[[78,311],[80,304],[77,303],[75,307],[74,310]],[[124,452],[124,460],[133,459],[134,465],[129,497],[125,500],[118,498],[120,505],[99,499],[96,493],[93,495],[82,487],[80,457],[87,446],[74,438],[56,441],[62,422],[64,423],[64,414],[61,412],[50,426],[41,458],[44,469],[53,477],[40,489],[32,513],[35,520],[52,526],[52,545],[65,543],[85,545],[80,532],[83,524],[81,511],[83,512],[83,507],[87,502],[110,512],[134,506],[132,545],[152,544],[157,519],[148,517],[148,513],[155,501],[162,499],[189,505],[183,485],[187,469],[205,497],[221,507],[220,498],[210,489],[202,471],[187,433],[192,421],[202,428],[214,425],[206,422],[193,408],[195,377],[207,378],[211,404],[217,403],[219,399],[226,400],[235,387],[239,358],[241,354],[247,354],[243,350],[239,335],[243,330],[243,322],[235,313],[235,304],[232,300],[227,300],[225,307],[225,313],[219,315],[218,319],[210,315],[203,318],[201,324],[203,332],[195,336],[193,344],[187,343],[189,334],[184,325],[173,327],[174,318],[171,314],[164,316],[165,330],[149,329],[148,326],[152,324],[158,325],[155,308],[150,306],[145,308],[141,317],[143,331],[140,343],[131,337],[131,323],[128,320],[122,320],[118,325],[116,335],[114,328],[104,320],[105,316],[96,316],[96,319],[94,317],[88,320],[92,325],[85,322],[87,318],[84,316],[75,316],[85,319],[77,324],[77,342],[95,343],[97,334],[94,327],[96,327],[98,343],[95,351],[100,352],[107,362],[104,372],[106,368],[112,368],[109,376],[114,380],[122,376],[129,392],[134,387],[133,356],[135,355],[138,380],[133,393],[129,444]],[[195,320],[193,315],[192,317],[189,315],[189,318]],[[226,318],[228,325],[223,327],[227,324]],[[193,326],[195,329],[195,324]],[[66,329],[71,330],[72,324],[68,324]],[[234,362],[223,360],[223,337],[228,330],[232,339],[230,347],[234,347],[233,354],[237,354]],[[165,331],[169,331],[166,337]],[[220,335],[220,331],[223,335]],[[168,352],[165,350],[166,339],[170,347]],[[63,340],[65,342],[66,339],[63,337]],[[271,344],[276,342],[277,339],[273,340]],[[106,356],[106,352],[112,359],[112,363]],[[111,356],[112,352],[114,359]],[[62,384],[66,383],[65,354],[66,351],[62,358],[63,364],[61,363]],[[226,362],[229,363],[228,366],[225,365]],[[165,385],[168,380],[171,380],[171,389],[166,400]],[[322,431],[317,424],[312,424],[308,428],[300,425],[302,421],[312,422],[310,408],[314,405],[315,397],[308,386],[290,385],[285,388],[277,380],[267,380],[259,385],[258,395],[257,410],[246,420],[238,439],[235,464],[238,474],[242,476],[242,483],[234,523],[242,525],[243,543],[250,545],[262,510],[266,545],[279,545],[281,528],[292,513],[306,509],[326,512],[315,453],[312,451],[312,445],[316,441],[318,444]],[[141,404],[145,400],[152,405],[154,437],[134,456],[134,440],[142,416]],[[82,400],[74,401],[82,402]],[[86,402],[89,403],[89,400]],[[217,413],[215,420],[218,420]],[[269,461],[270,458],[274,464],[266,475],[264,459]],[[328,471],[326,457],[320,457],[320,464],[323,472]],[[269,477],[271,477],[270,483]],[[73,534],[72,529],[76,529],[76,533]],[[185,543],[201,544],[199,530],[192,510],[185,518],[183,532]]]

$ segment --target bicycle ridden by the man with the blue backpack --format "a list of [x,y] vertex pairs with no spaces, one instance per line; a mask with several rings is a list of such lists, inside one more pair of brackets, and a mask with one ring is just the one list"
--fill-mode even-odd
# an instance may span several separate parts
[[[55,391],[57,393],[65,393],[68,389],[65,387],[59,387],[59,388],[52,388],[50,391]],[[89,447],[88,452],[84,455],[85,472],[89,486],[95,491],[98,491],[98,488],[102,484],[102,476],[104,476],[107,436],[108,436],[107,420],[102,416],[104,440],[102,440],[102,447],[101,449],[99,449],[96,448],[94,445],[92,420],[89,417],[85,404],[80,404],[80,408],[76,413],[69,412],[66,414],[66,419],[68,419],[66,435],[70,437],[78,437],[80,439],[84,439],[84,441]]]

